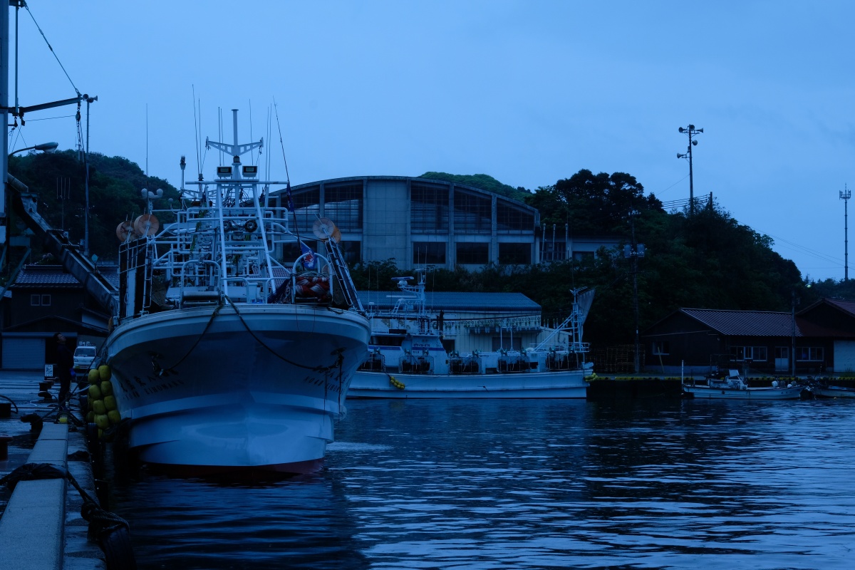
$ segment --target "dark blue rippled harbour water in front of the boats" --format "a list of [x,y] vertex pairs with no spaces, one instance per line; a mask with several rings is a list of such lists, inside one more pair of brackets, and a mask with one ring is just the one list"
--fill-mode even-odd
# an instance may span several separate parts
[[351,401],[321,473],[116,474],[140,568],[851,568],[855,402]]

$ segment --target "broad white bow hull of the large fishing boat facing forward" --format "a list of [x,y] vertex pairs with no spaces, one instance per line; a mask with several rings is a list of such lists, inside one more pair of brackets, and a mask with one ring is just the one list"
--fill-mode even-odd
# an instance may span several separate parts
[[105,343],[128,443],[190,473],[308,473],[333,441],[368,320],[257,304],[127,320]]

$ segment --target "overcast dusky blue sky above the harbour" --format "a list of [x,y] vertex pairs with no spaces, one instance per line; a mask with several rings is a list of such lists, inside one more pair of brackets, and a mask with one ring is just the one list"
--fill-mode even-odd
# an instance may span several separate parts
[[[803,278],[846,275],[847,0],[27,4],[17,42],[10,9],[10,105],[97,96],[83,144],[176,187],[182,155],[186,179],[200,163],[211,176],[203,141],[222,117],[232,142],[239,109],[240,142],[263,137],[256,162],[292,185],[439,171],[535,190],[587,168],[667,203],[689,197],[691,124],[695,197],[772,238]],[[75,112],[26,115],[10,151],[77,148]],[[852,238],[855,278],[855,217]]]

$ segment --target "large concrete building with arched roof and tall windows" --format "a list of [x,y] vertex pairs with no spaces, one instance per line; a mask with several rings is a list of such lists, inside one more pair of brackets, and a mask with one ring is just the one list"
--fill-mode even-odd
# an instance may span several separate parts
[[[272,197],[286,207],[284,190]],[[537,209],[489,191],[409,176],[358,176],[294,186],[298,230],[318,217],[341,232],[347,261],[393,259],[401,268],[481,267],[539,260]]]

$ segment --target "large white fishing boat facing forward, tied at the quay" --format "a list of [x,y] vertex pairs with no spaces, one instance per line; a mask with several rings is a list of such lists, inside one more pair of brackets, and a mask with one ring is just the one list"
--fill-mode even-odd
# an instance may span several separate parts
[[200,174],[168,209],[144,190],[147,212],[117,228],[118,322],[96,364],[111,369],[141,461],[180,473],[307,473],[345,414],[369,320],[335,226],[315,221],[326,255],[310,250],[290,224],[293,207],[264,197],[287,185],[290,205],[290,184],[240,162],[263,139],[238,143],[237,110],[233,130],[233,144],[206,141],[233,158],[216,179]]

